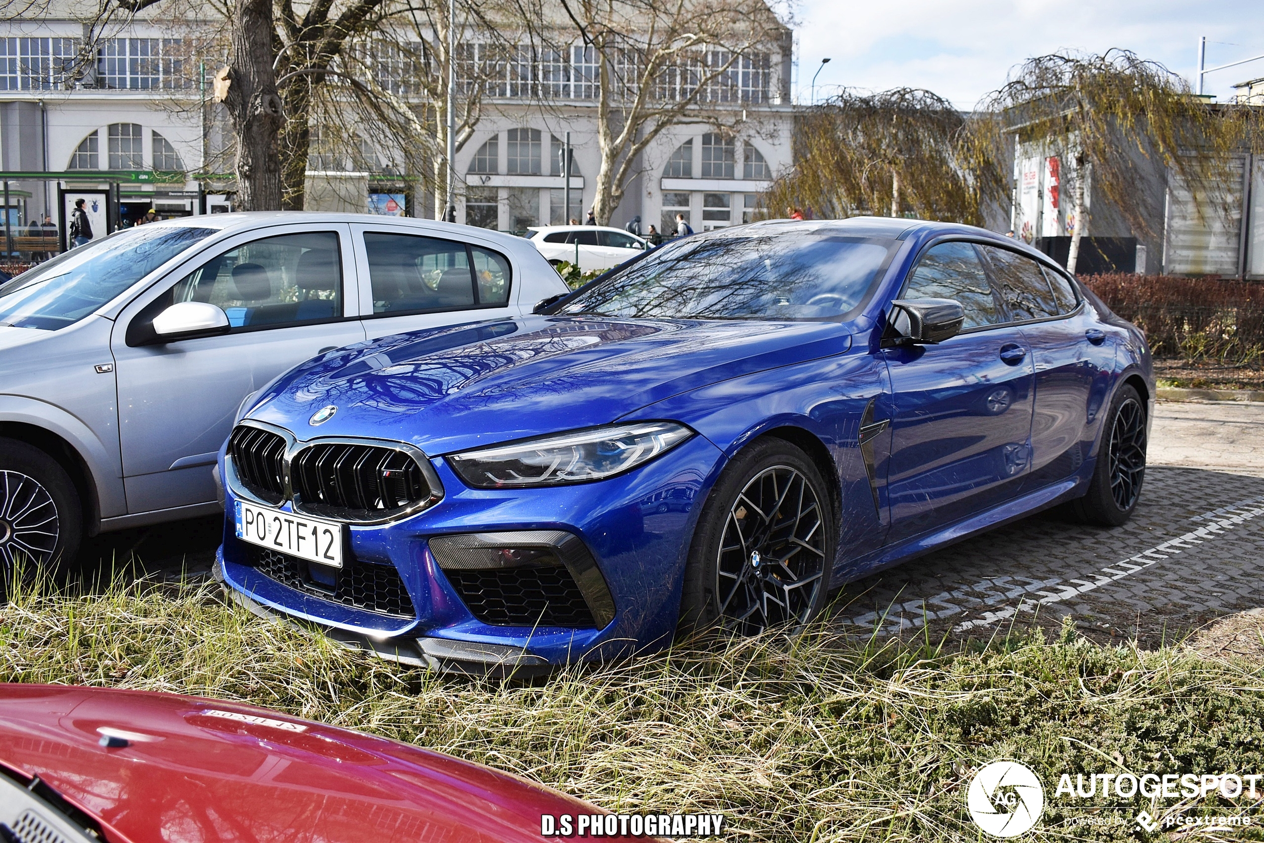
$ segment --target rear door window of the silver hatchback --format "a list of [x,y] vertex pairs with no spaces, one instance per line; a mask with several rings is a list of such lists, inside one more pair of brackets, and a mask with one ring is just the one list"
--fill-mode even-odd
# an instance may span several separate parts
[[365,233],[364,249],[369,254],[374,313],[474,306],[474,281],[464,243]]

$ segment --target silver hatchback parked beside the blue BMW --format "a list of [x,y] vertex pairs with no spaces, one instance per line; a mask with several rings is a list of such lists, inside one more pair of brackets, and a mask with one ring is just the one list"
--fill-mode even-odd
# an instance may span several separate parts
[[565,292],[521,238],[350,214],[186,217],[39,264],[0,286],[0,564],[216,512],[238,408],[308,358]]

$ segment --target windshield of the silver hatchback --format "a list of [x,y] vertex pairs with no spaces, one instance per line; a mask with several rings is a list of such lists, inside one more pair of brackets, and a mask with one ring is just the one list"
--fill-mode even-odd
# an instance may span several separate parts
[[0,286],[0,325],[73,325],[215,229],[142,226],[111,234]]

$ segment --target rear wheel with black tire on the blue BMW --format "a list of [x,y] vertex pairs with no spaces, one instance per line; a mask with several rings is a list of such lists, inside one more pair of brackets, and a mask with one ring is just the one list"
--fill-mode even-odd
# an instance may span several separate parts
[[1117,527],[1133,516],[1145,479],[1145,402],[1133,384],[1115,392],[1102,425],[1092,483],[1085,497],[1071,502],[1081,521]]

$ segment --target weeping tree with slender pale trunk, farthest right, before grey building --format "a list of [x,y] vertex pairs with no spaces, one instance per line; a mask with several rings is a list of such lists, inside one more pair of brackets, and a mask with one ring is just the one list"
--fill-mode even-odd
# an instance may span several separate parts
[[985,109],[999,131],[1039,139],[1072,164],[1071,272],[1087,222],[1090,169],[1096,192],[1133,230],[1153,234],[1154,210],[1136,190],[1139,164],[1167,168],[1196,193],[1213,192],[1229,153],[1246,142],[1237,112],[1208,107],[1183,78],[1124,49],[1028,59]]

